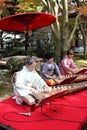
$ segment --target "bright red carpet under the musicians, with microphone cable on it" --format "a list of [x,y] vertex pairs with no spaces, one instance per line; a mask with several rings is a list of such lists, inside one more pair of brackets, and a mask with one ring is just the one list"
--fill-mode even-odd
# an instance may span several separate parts
[[[9,98],[0,103],[0,123],[15,130],[81,130],[87,120],[87,90],[57,98],[32,112],[32,116],[17,114],[29,112],[29,106],[19,106]],[[1,129],[0,129],[1,130]]]

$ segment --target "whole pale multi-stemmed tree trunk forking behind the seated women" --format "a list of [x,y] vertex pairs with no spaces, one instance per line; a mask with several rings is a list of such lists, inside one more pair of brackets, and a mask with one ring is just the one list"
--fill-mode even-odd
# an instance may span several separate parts
[[[73,39],[74,33],[78,24],[78,17],[76,17],[75,25],[73,27],[72,32],[70,32],[70,36],[68,37],[68,0],[42,0],[42,2],[47,7],[48,13],[53,14],[56,17],[56,22],[53,23],[52,32],[54,34],[55,41],[55,52],[59,61],[66,54],[66,51],[69,49],[70,43]],[[79,2],[79,0],[77,0]],[[60,10],[59,10],[60,9]],[[58,16],[59,11],[61,12],[61,16]],[[62,18],[61,23],[59,24],[58,17]],[[60,29],[61,28],[61,29]]]

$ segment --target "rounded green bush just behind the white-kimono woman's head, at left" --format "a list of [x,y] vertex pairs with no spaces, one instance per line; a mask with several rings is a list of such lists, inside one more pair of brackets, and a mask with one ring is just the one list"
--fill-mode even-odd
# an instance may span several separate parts
[[8,60],[6,66],[11,72],[16,72],[22,68],[23,61],[18,57],[12,57]]

